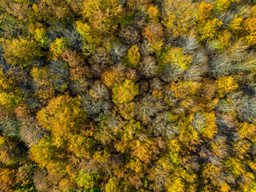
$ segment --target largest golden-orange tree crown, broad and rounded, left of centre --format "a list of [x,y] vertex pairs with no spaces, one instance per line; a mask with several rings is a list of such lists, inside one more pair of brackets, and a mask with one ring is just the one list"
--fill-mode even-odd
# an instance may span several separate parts
[[62,95],[50,100],[46,108],[38,111],[38,121],[56,138],[67,139],[77,133],[86,122],[81,98]]

